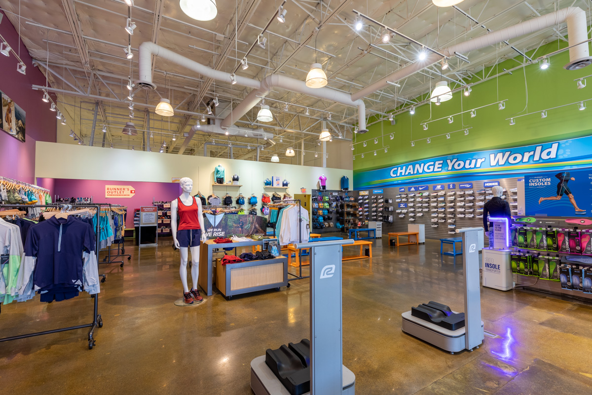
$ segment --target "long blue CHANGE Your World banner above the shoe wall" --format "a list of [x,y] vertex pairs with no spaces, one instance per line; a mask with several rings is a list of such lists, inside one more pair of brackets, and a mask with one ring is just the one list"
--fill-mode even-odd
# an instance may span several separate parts
[[[354,188],[387,187],[442,178],[491,179],[497,175],[592,166],[592,136],[524,147],[459,153],[372,171],[355,172]],[[497,177],[496,177],[497,178]]]

